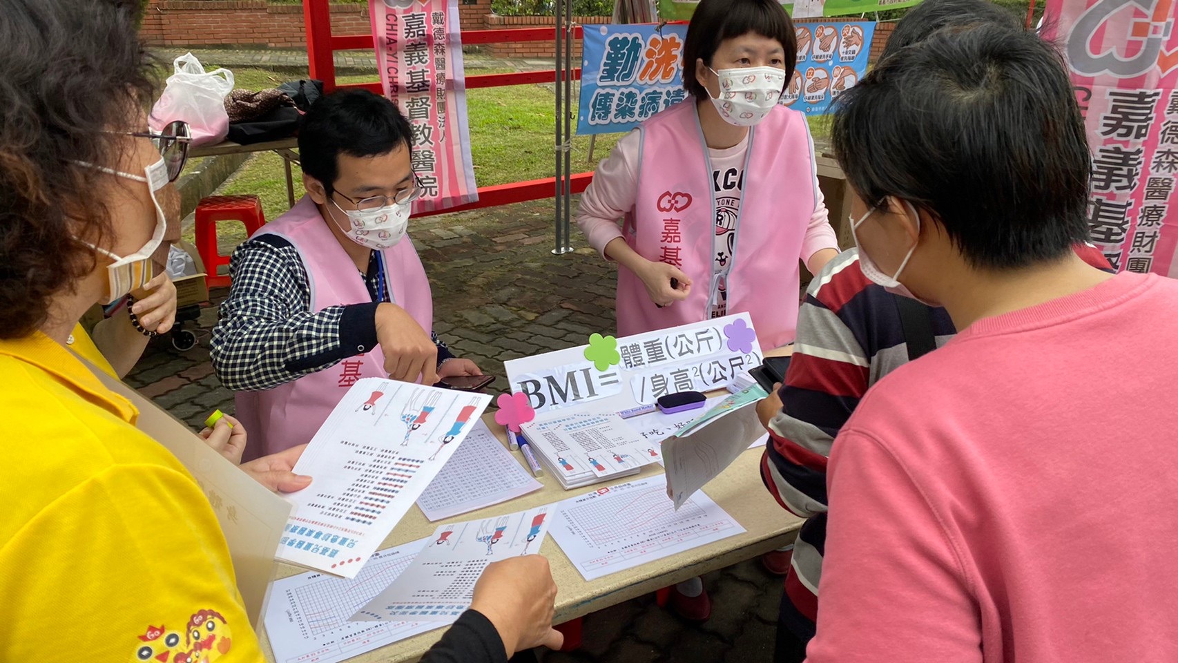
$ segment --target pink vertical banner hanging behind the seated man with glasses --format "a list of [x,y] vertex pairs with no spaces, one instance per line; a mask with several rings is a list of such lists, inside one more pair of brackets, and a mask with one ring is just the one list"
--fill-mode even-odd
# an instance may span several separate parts
[[466,125],[458,0],[369,0],[384,95],[413,128],[424,193],[413,213],[478,200]]

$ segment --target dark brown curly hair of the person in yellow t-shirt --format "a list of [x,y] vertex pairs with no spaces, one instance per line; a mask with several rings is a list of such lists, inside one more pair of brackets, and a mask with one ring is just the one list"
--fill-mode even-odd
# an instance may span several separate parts
[[[102,177],[151,100],[141,0],[0,0],[0,339],[49,316],[54,294],[95,265],[78,241],[111,234]],[[138,127],[135,127],[138,128]]]

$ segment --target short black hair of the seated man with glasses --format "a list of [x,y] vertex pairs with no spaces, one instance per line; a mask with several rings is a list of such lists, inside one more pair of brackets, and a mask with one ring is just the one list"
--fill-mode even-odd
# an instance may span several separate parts
[[320,97],[303,117],[299,163],[331,195],[339,177],[339,154],[376,157],[398,145],[410,150],[412,135],[409,120],[392,101],[366,89],[342,89]]

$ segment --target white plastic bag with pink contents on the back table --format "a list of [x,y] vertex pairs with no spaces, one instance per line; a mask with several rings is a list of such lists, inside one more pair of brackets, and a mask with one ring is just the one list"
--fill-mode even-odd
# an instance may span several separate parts
[[192,53],[177,58],[173,66],[176,73],[167,77],[167,87],[147,119],[152,131],[184,120],[192,132],[192,145],[225,140],[229,134],[225,97],[233,91],[233,72],[221,68],[206,73]]

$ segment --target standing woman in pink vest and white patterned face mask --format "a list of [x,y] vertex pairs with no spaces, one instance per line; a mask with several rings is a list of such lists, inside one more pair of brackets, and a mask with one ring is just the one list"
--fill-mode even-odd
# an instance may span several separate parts
[[793,340],[799,260],[818,273],[838,254],[806,118],[777,104],[796,61],[777,0],[696,7],[690,97],[617,142],[577,212],[589,244],[623,267],[620,336],[748,311],[762,349]]

